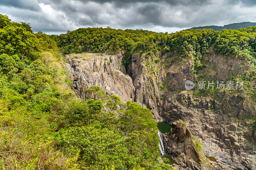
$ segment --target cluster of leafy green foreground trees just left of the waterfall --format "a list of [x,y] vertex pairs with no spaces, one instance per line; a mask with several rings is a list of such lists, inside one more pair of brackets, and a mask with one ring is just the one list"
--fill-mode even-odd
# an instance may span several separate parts
[[[132,168],[134,162],[152,169],[159,153],[156,123],[150,111],[137,103],[121,103],[119,96],[104,99],[72,102],[67,114],[70,125],[55,136],[58,145],[66,146],[68,154],[81,149],[80,164],[91,169],[106,167],[106,159],[117,169]],[[106,103],[105,111],[102,103]],[[78,116],[73,118],[73,112]]]

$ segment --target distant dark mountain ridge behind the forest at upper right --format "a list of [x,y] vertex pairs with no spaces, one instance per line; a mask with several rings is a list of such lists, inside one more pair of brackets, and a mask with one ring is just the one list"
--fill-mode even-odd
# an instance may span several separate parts
[[187,30],[190,29],[213,29],[215,31],[221,31],[223,29],[230,29],[230,30],[238,30],[239,28],[247,28],[249,26],[256,26],[255,22],[240,22],[240,23],[233,23],[233,24],[228,24],[228,25],[224,25],[224,26],[217,26],[217,25],[210,25],[210,26],[199,26],[199,27],[192,27],[189,28]]

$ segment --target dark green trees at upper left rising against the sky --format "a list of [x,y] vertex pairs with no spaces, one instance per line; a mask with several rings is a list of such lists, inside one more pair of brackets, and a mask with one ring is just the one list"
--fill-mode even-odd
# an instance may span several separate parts
[[[0,15],[0,54],[17,54],[23,59],[35,60],[43,50],[58,51],[56,43],[49,35],[34,34],[29,24],[11,22],[7,16]],[[45,47],[44,44],[47,44]]]

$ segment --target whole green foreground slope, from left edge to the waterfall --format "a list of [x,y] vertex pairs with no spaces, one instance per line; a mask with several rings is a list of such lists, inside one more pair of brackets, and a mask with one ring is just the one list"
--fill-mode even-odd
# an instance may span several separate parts
[[148,109],[95,86],[86,100],[77,98],[53,36],[7,16],[0,21],[2,169],[166,166],[158,166],[157,127]]

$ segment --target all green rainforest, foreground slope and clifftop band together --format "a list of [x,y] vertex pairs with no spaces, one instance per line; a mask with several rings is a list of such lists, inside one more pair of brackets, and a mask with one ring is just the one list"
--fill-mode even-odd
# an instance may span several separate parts
[[[204,67],[209,48],[256,64],[256,26],[239,30],[79,28],[66,34],[34,33],[29,24],[0,15],[0,167],[2,169],[173,169],[159,162],[150,110],[122,103],[97,86],[80,99],[63,63],[70,53],[139,53],[157,63],[164,53]],[[172,62],[171,60],[168,62]],[[247,76],[247,77],[246,77]],[[248,87],[254,75],[244,75]],[[255,91],[251,90],[252,95]]]

